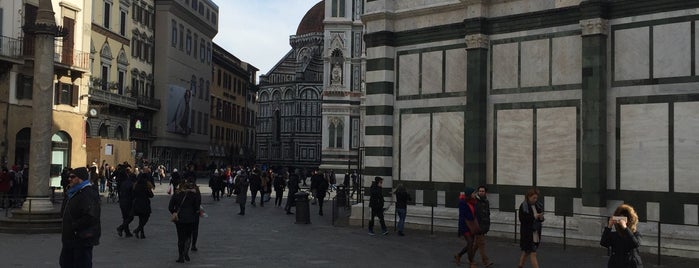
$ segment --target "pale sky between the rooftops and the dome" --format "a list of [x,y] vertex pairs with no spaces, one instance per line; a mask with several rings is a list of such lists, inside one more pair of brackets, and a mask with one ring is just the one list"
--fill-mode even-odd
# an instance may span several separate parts
[[214,0],[219,8],[214,42],[266,74],[291,49],[289,36],[320,0]]

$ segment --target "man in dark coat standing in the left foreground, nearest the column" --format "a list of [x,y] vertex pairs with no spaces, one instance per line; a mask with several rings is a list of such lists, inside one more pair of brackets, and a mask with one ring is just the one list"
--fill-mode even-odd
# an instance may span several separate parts
[[61,231],[61,267],[92,267],[92,248],[99,245],[100,195],[90,184],[87,168],[74,169],[70,175],[67,198],[63,199]]

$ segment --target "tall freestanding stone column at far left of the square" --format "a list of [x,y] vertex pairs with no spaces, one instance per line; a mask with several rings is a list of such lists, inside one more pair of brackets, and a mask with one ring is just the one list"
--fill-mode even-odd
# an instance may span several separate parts
[[[54,209],[49,200],[51,136],[53,135],[53,58],[57,32],[51,0],[40,0],[34,43],[34,89],[32,95],[32,145],[29,149],[28,197],[22,210]],[[30,208],[31,206],[31,208]]]

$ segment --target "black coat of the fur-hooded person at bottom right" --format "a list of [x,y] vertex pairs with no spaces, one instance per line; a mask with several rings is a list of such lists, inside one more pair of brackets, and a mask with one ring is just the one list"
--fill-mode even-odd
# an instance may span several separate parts
[[632,233],[629,228],[615,232],[605,227],[602,233],[600,245],[612,250],[607,267],[614,268],[642,268],[641,254],[638,248],[641,246],[641,234]]

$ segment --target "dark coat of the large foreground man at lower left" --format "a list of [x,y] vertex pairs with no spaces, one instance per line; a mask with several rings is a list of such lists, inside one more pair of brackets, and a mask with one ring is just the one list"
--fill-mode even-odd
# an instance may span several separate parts
[[82,246],[99,245],[102,228],[100,194],[97,187],[85,186],[73,197],[63,199],[61,207],[63,211],[61,240],[73,241]]

